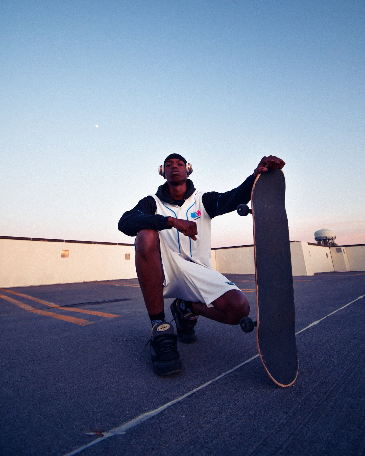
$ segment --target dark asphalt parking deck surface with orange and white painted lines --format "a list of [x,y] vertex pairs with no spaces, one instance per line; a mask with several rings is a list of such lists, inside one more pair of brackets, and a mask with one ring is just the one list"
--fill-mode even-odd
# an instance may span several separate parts
[[[255,318],[254,276],[227,277]],[[255,332],[203,317],[198,343],[178,343],[183,372],[157,377],[137,280],[1,289],[0,454],[364,455],[365,273],[294,289],[307,329],[289,388],[253,358]]]

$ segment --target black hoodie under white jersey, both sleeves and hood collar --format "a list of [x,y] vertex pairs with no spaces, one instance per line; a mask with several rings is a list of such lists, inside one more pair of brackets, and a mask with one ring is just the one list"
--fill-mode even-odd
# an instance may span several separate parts
[[[229,192],[204,193],[202,202],[209,217],[214,218],[217,215],[235,211],[239,204],[247,204],[250,201],[254,182],[255,177],[252,175],[247,177],[239,187],[229,190]],[[181,207],[185,200],[195,192],[194,184],[190,179],[188,179],[186,185],[187,190],[181,200],[174,200],[170,196],[167,182],[158,187],[156,196],[163,202]],[[168,217],[156,214],[156,209],[156,201],[153,197],[148,196],[141,199],[133,209],[124,212],[118,223],[118,229],[127,236],[136,236],[141,229],[161,231],[162,229],[172,228],[167,226]]]

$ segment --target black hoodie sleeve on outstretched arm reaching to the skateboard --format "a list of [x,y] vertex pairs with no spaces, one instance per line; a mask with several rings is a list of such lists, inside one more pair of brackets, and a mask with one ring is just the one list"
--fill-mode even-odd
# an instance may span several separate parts
[[237,188],[229,192],[207,192],[202,196],[202,202],[210,218],[217,215],[235,211],[239,204],[247,204],[251,198],[251,190],[255,182],[255,176],[249,176]]

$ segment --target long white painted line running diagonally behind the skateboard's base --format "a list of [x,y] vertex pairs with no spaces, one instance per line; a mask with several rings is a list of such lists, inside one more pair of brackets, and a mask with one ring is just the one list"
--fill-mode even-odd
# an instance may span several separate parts
[[[352,304],[355,301],[358,301],[359,299],[363,298],[364,296],[365,295],[359,296],[358,298],[354,299],[354,301],[351,301],[348,304],[346,304],[345,306],[340,307],[336,311],[333,311],[333,312],[329,313],[328,315],[324,316],[320,320],[313,321],[313,323],[311,323],[310,325],[308,325],[305,328],[301,329],[300,331],[296,332],[295,334],[296,335],[300,334],[301,332],[306,331],[308,328],[311,328],[312,326],[318,325],[318,323],[320,321],[322,321],[325,318],[327,318],[328,316],[331,316],[331,315],[335,314],[336,312],[344,309],[345,307],[349,306],[350,304]],[[218,377],[213,378],[213,380],[209,380],[209,382],[203,383],[203,385],[200,385],[197,388],[192,389],[188,393],[183,394],[183,396],[180,396],[180,397],[178,397],[176,399],[173,399],[172,401],[167,402],[167,404],[161,405],[161,407],[158,407],[157,409],[151,410],[150,412],[143,413],[142,415],[137,416],[137,418],[134,418],[133,420],[127,421],[123,425],[118,426],[118,427],[110,430],[109,432],[105,432],[103,437],[99,437],[99,438],[93,440],[92,442],[88,443],[87,445],[80,446],[76,450],[73,450],[70,453],[67,453],[66,455],[63,455],[63,456],[76,455],[78,453],[81,453],[81,451],[86,450],[86,448],[89,448],[90,446],[94,446],[97,443],[99,443],[99,442],[101,442],[101,441],[103,441],[105,439],[109,439],[110,437],[113,437],[114,435],[125,434],[125,431],[127,431],[128,429],[131,429],[131,428],[133,428],[133,427],[135,427],[137,425],[140,425],[144,421],[147,421],[150,418],[153,418],[154,416],[158,415],[159,413],[161,413],[163,410],[167,409],[168,407],[171,407],[172,405],[176,404],[177,402],[180,402],[183,399],[187,398],[188,396],[191,396],[192,394],[196,393],[200,389],[203,389],[206,386],[211,385],[212,383],[216,382],[217,380],[219,380],[220,378],[224,377],[225,375],[234,372],[236,369],[242,367],[244,364],[250,363],[250,361],[252,361],[252,360],[254,360],[255,358],[258,358],[258,357],[259,357],[259,355],[257,354],[255,356],[253,356],[252,358],[246,359],[246,361],[244,361],[243,363],[240,363],[238,366],[235,366],[234,368],[229,369],[227,372],[224,372],[224,373],[220,374]]]

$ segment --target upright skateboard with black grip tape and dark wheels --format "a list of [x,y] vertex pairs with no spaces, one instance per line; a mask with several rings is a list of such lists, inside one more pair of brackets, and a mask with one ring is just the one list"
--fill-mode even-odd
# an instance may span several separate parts
[[285,178],[281,170],[259,174],[251,192],[254,228],[257,321],[241,319],[242,331],[257,326],[257,347],[270,378],[279,386],[292,385],[298,373],[295,307],[289,229],[285,211]]

